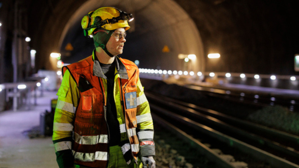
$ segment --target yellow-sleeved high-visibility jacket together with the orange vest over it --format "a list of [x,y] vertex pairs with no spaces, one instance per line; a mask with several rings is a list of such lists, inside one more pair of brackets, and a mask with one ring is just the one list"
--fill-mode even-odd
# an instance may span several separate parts
[[[95,52],[95,50],[94,50]],[[63,67],[57,92],[53,143],[60,168],[74,163],[105,168],[108,163],[109,131],[106,122],[107,80],[95,53]],[[153,122],[149,103],[139,79],[138,67],[115,57],[114,100],[120,127],[120,146],[127,164],[137,154],[155,155]]]

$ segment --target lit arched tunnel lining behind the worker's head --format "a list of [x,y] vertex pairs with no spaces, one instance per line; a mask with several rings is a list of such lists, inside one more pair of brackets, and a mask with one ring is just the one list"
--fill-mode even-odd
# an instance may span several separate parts
[[[65,45],[72,44],[74,36],[78,36],[77,41],[80,43],[75,48],[85,52],[73,52],[74,59],[68,58],[66,63],[78,61],[91,54],[92,39],[83,37],[79,25],[89,11],[103,6],[118,7],[132,13],[135,18],[129,23],[131,29],[126,37],[124,53],[120,57],[131,61],[139,60],[141,68],[194,71],[205,69],[199,31],[190,16],[173,0],[131,0],[129,3],[121,0],[86,1],[68,20],[59,41],[60,49],[64,50]],[[168,53],[162,52],[164,46],[169,48]],[[195,54],[197,57],[186,67],[184,61],[178,58],[179,54]]]

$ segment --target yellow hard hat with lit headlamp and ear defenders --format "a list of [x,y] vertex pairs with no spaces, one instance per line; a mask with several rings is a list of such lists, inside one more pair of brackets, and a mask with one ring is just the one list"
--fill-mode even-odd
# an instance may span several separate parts
[[118,28],[130,28],[128,21],[133,20],[132,14],[123,12],[115,7],[101,7],[95,11],[89,12],[83,17],[81,26],[84,36],[90,36],[97,28],[106,30],[115,30]]

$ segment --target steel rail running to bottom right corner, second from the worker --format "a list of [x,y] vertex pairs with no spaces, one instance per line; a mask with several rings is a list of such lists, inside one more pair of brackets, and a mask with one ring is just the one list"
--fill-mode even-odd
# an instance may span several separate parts
[[[209,135],[210,137],[216,138],[217,140],[222,141],[231,147],[236,147],[238,149],[241,149],[243,152],[250,154],[252,157],[255,157],[257,160],[260,160],[260,161],[262,160],[262,161],[268,162],[272,167],[299,168],[299,166],[297,164],[294,164],[294,163],[287,161],[283,158],[277,157],[277,156],[275,156],[269,152],[263,151],[257,147],[246,144],[246,143],[239,141],[233,137],[230,137],[230,136],[225,135],[219,131],[216,131],[210,127],[199,124],[189,118],[183,117],[178,114],[174,114],[173,112],[170,112],[161,107],[158,107],[155,104],[151,104],[151,109],[154,113],[157,112],[157,114],[159,114],[159,115],[164,115],[164,118],[167,117],[169,120],[176,122],[176,124],[182,123],[190,128],[195,129],[196,131],[198,131],[196,133],[203,133],[203,134]],[[180,133],[180,135],[183,135],[183,134]]]

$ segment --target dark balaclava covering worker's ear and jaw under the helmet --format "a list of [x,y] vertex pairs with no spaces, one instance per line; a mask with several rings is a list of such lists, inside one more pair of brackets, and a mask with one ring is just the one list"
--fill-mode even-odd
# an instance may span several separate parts
[[[102,30],[102,31],[99,31]],[[97,32],[99,31],[99,32]],[[105,32],[104,32],[105,31]],[[94,39],[94,47],[101,47],[108,56],[110,57],[114,57],[111,53],[109,53],[109,51],[106,48],[106,44],[108,43],[111,34],[114,32],[114,30],[106,30],[103,28],[97,29],[94,32],[97,32],[96,34],[93,35],[93,39]],[[106,33],[108,32],[108,34]]]

